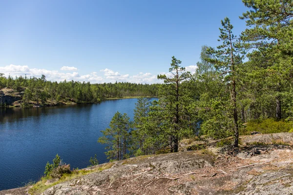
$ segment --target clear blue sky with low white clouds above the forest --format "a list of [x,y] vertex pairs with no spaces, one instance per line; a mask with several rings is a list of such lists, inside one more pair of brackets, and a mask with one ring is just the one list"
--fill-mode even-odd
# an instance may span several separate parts
[[241,0],[1,0],[0,73],[157,83],[171,57],[191,73],[221,20],[246,28]]

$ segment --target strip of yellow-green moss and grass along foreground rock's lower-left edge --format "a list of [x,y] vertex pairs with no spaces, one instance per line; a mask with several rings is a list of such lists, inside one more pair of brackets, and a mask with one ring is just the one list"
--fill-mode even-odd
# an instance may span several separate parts
[[80,176],[84,176],[84,175],[88,175],[94,172],[101,172],[105,169],[109,169],[113,166],[114,163],[106,163],[103,166],[99,166],[95,169],[91,169],[91,170],[76,170],[76,171],[72,171],[71,174],[64,174],[58,181],[47,184],[46,182],[51,179],[49,177],[42,177],[40,181],[38,181],[35,185],[33,185],[32,188],[29,189],[28,193],[30,195],[38,195],[41,194],[42,192],[44,192],[46,189],[51,188],[61,182],[64,181],[68,181]]

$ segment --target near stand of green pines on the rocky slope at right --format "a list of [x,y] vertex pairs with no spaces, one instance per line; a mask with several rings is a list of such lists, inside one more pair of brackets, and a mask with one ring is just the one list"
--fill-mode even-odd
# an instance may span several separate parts
[[234,136],[238,147],[247,122],[293,120],[293,0],[243,2],[248,11],[240,19],[249,28],[240,36],[229,18],[221,20],[219,45],[202,47],[194,75],[172,57],[172,77],[158,75],[165,82],[159,100],[139,99],[134,121],[113,117],[99,139],[109,158],[177,152],[182,138],[195,135]]

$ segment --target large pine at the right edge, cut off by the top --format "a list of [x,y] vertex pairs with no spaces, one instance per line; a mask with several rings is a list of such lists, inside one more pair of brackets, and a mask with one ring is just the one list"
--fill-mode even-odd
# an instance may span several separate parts
[[[266,70],[264,83],[275,98],[275,117],[282,118],[281,102],[285,97],[286,88],[293,79],[293,0],[242,0],[250,8],[240,17],[248,26],[242,33],[242,39],[256,48],[250,61],[264,58],[267,64],[259,65],[260,72]],[[256,55],[258,54],[258,55]],[[263,71],[262,71],[263,73]],[[259,74],[259,77],[262,77]],[[272,90],[274,89],[274,90]]]

